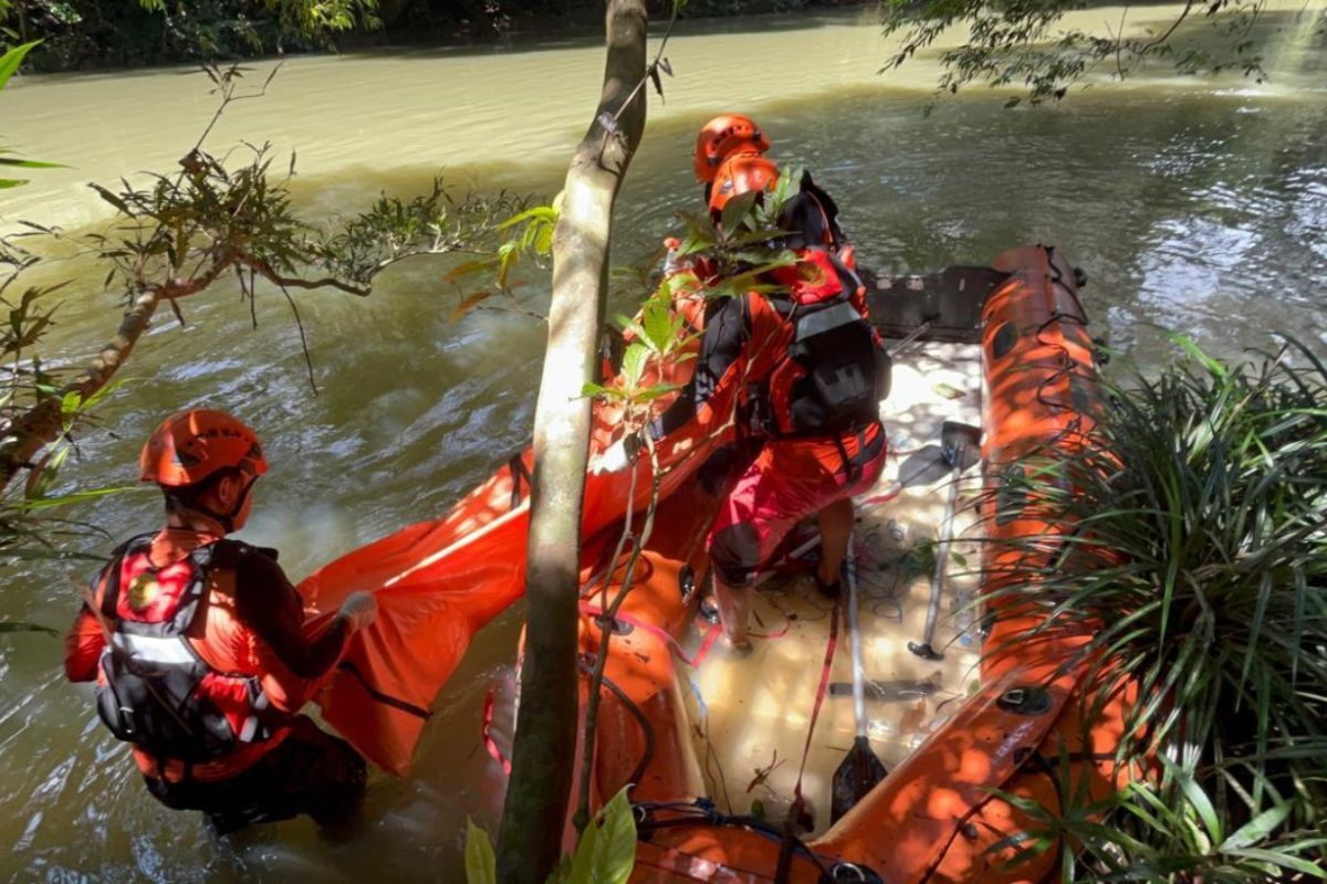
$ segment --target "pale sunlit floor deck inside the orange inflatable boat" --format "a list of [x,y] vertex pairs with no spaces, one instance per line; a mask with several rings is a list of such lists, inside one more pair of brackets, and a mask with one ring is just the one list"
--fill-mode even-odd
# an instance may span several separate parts
[[[969,602],[975,591],[975,543],[965,541],[974,516],[979,467],[959,484],[954,543],[934,647],[942,660],[908,651],[925,620],[936,541],[953,472],[940,460],[941,425],[981,425],[981,349],[975,345],[914,345],[896,357],[893,391],[881,407],[890,456],[880,482],[859,498],[856,547],[860,620],[872,746],[892,769],[977,688],[979,640]],[[896,488],[900,469],[924,480],[894,500],[871,505]],[[780,822],[792,799],[807,728],[829,637],[832,602],[805,575],[774,578],[752,599],[755,649],[739,656],[717,643],[699,669],[681,667],[695,751],[719,810],[755,812]],[[758,637],[760,635],[766,637]],[[687,636],[694,648],[701,635]],[[687,684],[689,689],[687,689]],[[831,683],[851,685],[847,623],[839,631]],[[829,783],[856,734],[851,688],[825,696],[811,740],[803,794],[815,831],[829,824]]]

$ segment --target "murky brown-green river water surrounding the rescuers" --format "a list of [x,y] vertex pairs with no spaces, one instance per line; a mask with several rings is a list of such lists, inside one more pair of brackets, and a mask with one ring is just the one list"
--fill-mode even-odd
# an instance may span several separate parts
[[[1154,9],[1154,8],[1153,8]],[[1082,265],[1099,334],[1143,362],[1164,359],[1154,326],[1222,355],[1289,330],[1327,350],[1327,53],[1322,3],[1271,8],[1258,37],[1273,81],[1178,80],[1165,72],[1100,83],[1062,107],[1003,110],[975,91],[924,117],[934,66],[874,76],[877,29],[857,16],[703,25],[670,46],[678,78],[652,106],[617,225],[618,260],[648,253],[690,207],[690,143],[719,110],[760,119],[782,162],[815,170],[843,208],[861,261],[881,270],[982,262],[1027,241]],[[1097,9],[1093,15],[1119,20]],[[1144,16],[1141,12],[1135,15]],[[1307,24],[1306,24],[1307,23]],[[1145,23],[1139,21],[1140,27]],[[597,38],[483,50],[410,50],[288,62],[265,98],[232,107],[214,139],[299,150],[311,216],[353,211],[380,190],[418,192],[446,168],[459,187],[552,192],[593,106]],[[256,65],[260,78],[267,64]],[[80,187],[166,168],[211,113],[183,70],[57,77],[0,97],[4,134],[73,170],[7,191],[21,217],[77,227],[100,207]],[[260,297],[259,327],[227,292],[161,322],[102,412],[105,429],[69,469],[80,484],[133,478],[151,425],[187,406],[231,408],[269,440],[251,539],[301,575],[345,549],[443,510],[529,431],[544,329],[474,314],[449,322],[446,264],[405,264],[360,301],[300,296],[321,395],[312,395],[288,307]],[[543,280],[529,278],[536,306]],[[85,357],[109,331],[111,296],[76,289],[53,350]],[[85,513],[110,535],[153,525],[153,494]],[[100,545],[105,551],[110,542]],[[11,563],[0,616],[64,628],[69,575]],[[519,611],[475,643],[435,706],[414,775],[380,778],[342,840],[307,822],[214,842],[195,815],[157,806],[125,747],[96,722],[86,688],[58,676],[46,636],[0,643],[0,877],[19,880],[459,880],[467,814],[500,801],[479,738],[484,693],[514,657]]]

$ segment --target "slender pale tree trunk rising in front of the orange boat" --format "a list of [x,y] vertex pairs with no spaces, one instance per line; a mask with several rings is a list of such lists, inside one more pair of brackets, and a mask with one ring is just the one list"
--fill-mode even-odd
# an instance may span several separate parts
[[[644,0],[609,0],[604,90],[567,171],[553,232],[548,353],[535,410],[520,713],[503,807],[498,880],[544,884],[561,855],[576,754],[576,603],[596,343],[608,289],[613,201],[645,130]],[[617,133],[604,122],[617,118]]]

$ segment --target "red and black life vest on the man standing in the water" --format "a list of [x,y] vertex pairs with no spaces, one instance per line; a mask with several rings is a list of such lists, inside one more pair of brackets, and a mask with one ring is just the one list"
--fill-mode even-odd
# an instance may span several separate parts
[[139,750],[184,762],[268,740],[272,709],[257,677],[218,672],[190,641],[195,623],[206,623],[218,558],[248,547],[218,541],[157,567],[151,545],[151,535],[133,538],[101,575],[98,607],[110,631],[98,663],[101,720]]

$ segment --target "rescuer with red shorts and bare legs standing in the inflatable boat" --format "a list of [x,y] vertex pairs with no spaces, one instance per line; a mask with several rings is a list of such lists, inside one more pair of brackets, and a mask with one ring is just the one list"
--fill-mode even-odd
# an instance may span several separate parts
[[[754,143],[768,144],[763,135]],[[698,146],[698,174],[709,156]],[[760,151],[730,151],[707,186],[711,217],[718,224],[729,200],[763,193],[778,178]],[[747,587],[808,516],[820,522],[816,584],[837,592],[852,496],[871,488],[885,463],[878,402],[888,395],[888,357],[867,321],[865,289],[844,260],[836,209],[827,201],[804,176],[779,216],[780,229],[794,236],[778,243],[798,258],[770,273],[779,292],[711,302],[691,382],[648,429],[662,439],[690,421],[722,424],[729,416],[707,403],[719,390],[738,387],[738,428],[759,452],[721,506],[709,549],[725,635],[739,649],[750,647]],[[624,468],[638,448],[636,436],[618,440],[597,469]]]

